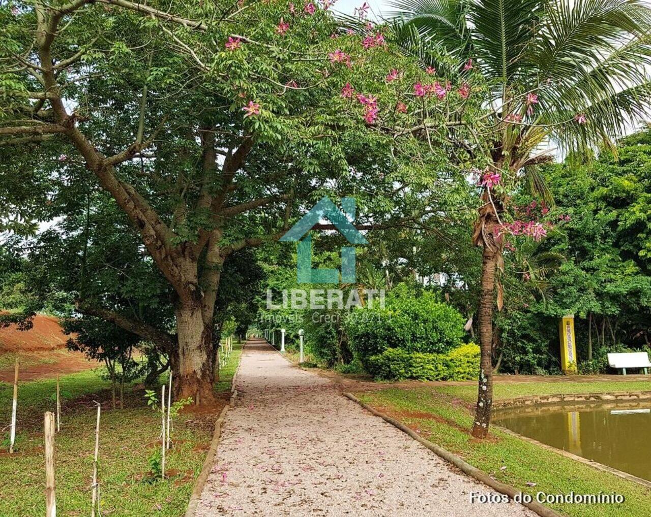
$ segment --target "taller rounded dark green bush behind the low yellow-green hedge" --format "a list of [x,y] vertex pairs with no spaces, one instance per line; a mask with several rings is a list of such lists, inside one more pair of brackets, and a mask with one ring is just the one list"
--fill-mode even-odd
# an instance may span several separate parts
[[433,293],[387,297],[386,308],[359,307],[345,323],[355,357],[368,358],[387,349],[443,353],[464,336],[464,317],[454,307],[437,301]]

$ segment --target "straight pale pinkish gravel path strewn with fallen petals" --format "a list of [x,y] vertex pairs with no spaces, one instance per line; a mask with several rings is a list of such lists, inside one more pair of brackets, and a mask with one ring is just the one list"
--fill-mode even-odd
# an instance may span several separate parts
[[236,384],[196,517],[535,516],[471,503],[492,490],[262,340],[247,342]]

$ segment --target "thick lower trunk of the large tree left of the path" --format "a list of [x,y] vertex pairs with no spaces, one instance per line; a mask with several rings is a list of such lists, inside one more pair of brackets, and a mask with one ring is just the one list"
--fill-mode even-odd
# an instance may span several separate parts
[[178,370],[174,372],[174,398],[192,397],[200,405],[215,403],[212,317],[204,321],[200,304],[181,302],[176,308],[176,332]]

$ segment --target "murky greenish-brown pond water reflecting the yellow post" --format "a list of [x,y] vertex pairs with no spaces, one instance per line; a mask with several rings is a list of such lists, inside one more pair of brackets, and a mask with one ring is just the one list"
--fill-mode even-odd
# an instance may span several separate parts
[[543,444],[651,481],[651,403],[522,408],[497,412],[493,421]]

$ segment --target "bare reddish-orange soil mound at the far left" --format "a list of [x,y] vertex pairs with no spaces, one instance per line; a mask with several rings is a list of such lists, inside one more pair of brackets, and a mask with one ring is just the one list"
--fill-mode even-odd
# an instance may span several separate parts
[[59,321],[52,316],[36,315],[30,330],[16,325],[0,328],[0,354],[3,352],[36,352],[64,349],[70,336],[63,333]]

